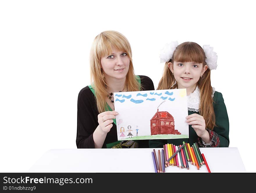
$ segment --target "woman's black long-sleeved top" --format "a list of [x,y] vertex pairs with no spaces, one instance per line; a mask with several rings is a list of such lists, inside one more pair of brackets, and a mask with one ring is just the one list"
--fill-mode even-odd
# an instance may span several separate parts
[[[147,76],[139,75],[141,78],[141,91],[154,90],[152,80]],[[93,140],[93,132],[98,123],[98,114],[96,99],[88,86],[84,87],[78,94],[77,100],[77,148],[95,148]],[[117,141],[116,125],[106,135],[106,139],[102,148],[106,148],[106,144]],[[139,148],[147,148],[148,140],[136,140]]]

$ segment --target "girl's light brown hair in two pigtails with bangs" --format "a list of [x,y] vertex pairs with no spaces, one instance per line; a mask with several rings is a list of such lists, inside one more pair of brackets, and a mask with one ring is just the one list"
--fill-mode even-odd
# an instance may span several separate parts
[[[205,52],[200,45],[195,42],[184,42],[179,44],[173,53],[173,58],[165,63],[163,76],[159,81],[157,90],[175,89],[177,88],[176,80],[173,73],[168,68],[169,62],[198,62],[204,66]],[[208,129],[213,129],[215,125],[215,114],[212,99],[211,87],[211,71],[209,68],[205,71],[202,77],[198,80],[197,86],[200,89],[200,107],[199,113],[205,119],[205,125]]]

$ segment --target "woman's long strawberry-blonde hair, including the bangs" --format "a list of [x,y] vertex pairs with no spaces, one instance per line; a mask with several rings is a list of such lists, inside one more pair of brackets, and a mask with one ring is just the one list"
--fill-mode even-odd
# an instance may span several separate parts
[[111,55],[112,48],[124,51],[130,58],[128,73],[126,75],[125,85],[128,91],[139,91],[139,83],[134,75],[132,64],[131,46],[124,35],[116,31],[104,31],[97,35],[93,41],[90,51],[90,78],[91,85],[95,90],[95,98],[99,113],[106,111],[106,95],[108,94],[105,85],[107,85],[102,74],[100,59],[104,55]]

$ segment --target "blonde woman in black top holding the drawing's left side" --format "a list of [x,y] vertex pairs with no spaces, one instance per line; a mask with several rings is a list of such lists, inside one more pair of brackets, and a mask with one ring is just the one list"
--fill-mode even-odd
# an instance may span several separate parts
[[[77,148],[111,148],[119,143],[114,92],[154,90],[149,77],[134,75],[131,58],[131,46],[122,34],[104,31],[95,37],[90,52],[91,85],[78,95]],[[148,140],[137,142],[138,147],[148,147]]]

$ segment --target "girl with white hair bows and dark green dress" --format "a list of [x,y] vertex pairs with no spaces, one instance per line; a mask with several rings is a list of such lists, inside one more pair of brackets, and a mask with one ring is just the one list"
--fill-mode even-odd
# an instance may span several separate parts
[[[203,49],[204,48],[204,49]],[[166,62],[157,90],[184,89],[188,97],[189,138],[150,140],[149,147],[163,144],[182,145],[182,142],[200,147],[228,147],[229,121],[222,94],[211,87],[210,73],[217,67],[213,48],[194,42],[166,44],[161,51],[161,62]]]

